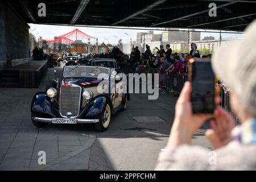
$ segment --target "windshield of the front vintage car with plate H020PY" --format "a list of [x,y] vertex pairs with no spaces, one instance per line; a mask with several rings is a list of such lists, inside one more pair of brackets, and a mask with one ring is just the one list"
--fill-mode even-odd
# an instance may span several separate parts
[[64,77],[100,77],[108,79],[109,69],[85,66],[65,67]]

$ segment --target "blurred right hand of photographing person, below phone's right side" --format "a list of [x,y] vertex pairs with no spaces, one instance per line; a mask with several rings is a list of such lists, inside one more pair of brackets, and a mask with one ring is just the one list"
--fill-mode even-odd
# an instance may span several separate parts
[[232,141],[231,131],[236,126],[236,121],[220,106],[214,111],[214,118],[210,121],[212,129],[207,130],[205,135],[214,148],[220,148]]

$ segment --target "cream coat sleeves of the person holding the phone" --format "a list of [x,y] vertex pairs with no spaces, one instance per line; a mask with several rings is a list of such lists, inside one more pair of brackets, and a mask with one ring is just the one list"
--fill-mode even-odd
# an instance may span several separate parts
[[155,170],[255,170],[256,144],[234,140],[210,151],[205,147],[181,145],[161,151]]

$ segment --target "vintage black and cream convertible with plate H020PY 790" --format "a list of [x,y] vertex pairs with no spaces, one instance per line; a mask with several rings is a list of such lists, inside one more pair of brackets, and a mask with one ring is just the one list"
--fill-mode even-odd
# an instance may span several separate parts
[[94,123],[98,131],[107,130],[112,114],[125,110],[129,100],[123,76],[113,68],[64,67],[63,80],[49,81],[46,91],[33,97],[32,122],[37,127]]

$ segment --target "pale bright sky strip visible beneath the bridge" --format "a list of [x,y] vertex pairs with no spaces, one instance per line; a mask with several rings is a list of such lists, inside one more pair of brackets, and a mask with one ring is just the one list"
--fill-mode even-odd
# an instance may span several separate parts
[[[43,39],[54,39],[55,36],[66,34],[76,28],[85,32],[90,36],[98,38],[99,43],[110,43],[118,44],[118,40],[122,39],[122,43],[129,43],[130,38],[132,41],[136,41],[137,32],[146,32],[147,30],[130,30],[130,29],[116,29],[116,28],[96,28],[96,27],[76,27],[76,26],[56,26],[56,25],[44,25],[44,24],[28,24],[30,26],[30,32],[39,38],[42,36]],[[131,27],[133,28],[133,27]],[[142,29],[145,29],[142,27]],[[205,30],[200,30],[205,31]],[[129,34],[129,35],[126,35]],[[162,34],[162,29],[154,30],[154,34]],[[225,34],[222,33],[222,39],[228,38],[239,38],[242,34]],[[215,39],[220,38],[219,32],[201,32],[201,39],[204,36],[214,36]],[[86,41],[87,42],[87,41]],[[94,43],[95,40],[90,40]]]

